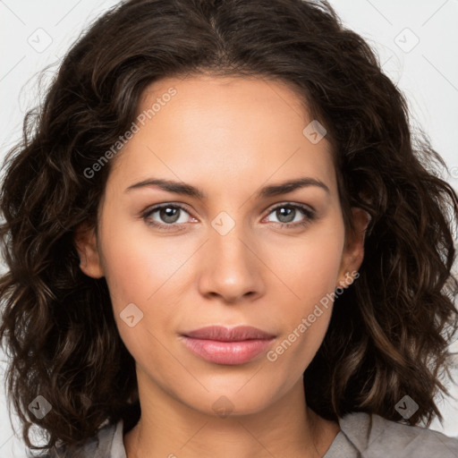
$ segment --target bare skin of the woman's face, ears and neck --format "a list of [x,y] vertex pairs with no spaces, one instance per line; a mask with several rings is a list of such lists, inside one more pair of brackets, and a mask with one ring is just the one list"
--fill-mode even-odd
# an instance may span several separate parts
[[[263,352],[239,365],[208,362],[181,333],[250,325],[276,335],[268,350],[275,349],[358,270],[367,215],[354,208],[357,230],[345,231],[330,144],[302,133],[312,118],[284,83],[167,78],[144,92],[139,114],[171,87],[174,98],[112,159],[98,233],[81,225],[75,237],[82,271],[106,277],[119,333],[136,361],[142,415],[124,436],[127,456],[322,456],[339,426],[307,407],[302,373],[332,306],[275,361]],[[267,184],[302,176],[329,191],[310,185],[256,196]],[[125,191],[152,177],[189,183],[207,197],[155,186]],[[164,213],[141,216],[163,203],[186,208],[169,231],[147,223],[166,225]],[[277,204],[303,204],[316,217],[293,228],[308,216],[296,209],[288,220],[272,211]],[[222,211],[235,224],[225,235],[212,226]],[[120,317],[130,303],[143,313],[134,327]],[[230,411],[224,418],[213,408],[221,396]]]

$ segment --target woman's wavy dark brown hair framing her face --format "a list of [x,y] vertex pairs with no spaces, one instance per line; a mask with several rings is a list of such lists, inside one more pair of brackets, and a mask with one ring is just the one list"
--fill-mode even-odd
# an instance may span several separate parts
[[[327,129],[346,228],[352,207],[372,217],[360,278],[335,300],[304,373],[310,408],[330,420],[366,411],[399,421],[394,406],[409,394],[419,404],[412,425],[442,420],[436,397],[447,394],[458,327],[458,199],[377,55],[324,1],[133,0],[78,38],[4,162],[0,338],[26,444],[43,448],[30,442],[32,424],[51,448],[80,445],[104,420],[131,428],[140,417],[106,280],[81,272],[73,235],[81,223],[97,230],[115,158],[87,171],[129,129],[142,91],[203,73],[291,85]],[[38,394],[52,405],[41,420],[28,410]]]

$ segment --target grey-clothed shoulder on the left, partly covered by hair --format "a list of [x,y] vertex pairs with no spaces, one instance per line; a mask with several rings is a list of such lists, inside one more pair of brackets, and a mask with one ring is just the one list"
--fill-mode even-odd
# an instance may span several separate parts
[[29,455],[28,458],[126,458],[123,447],[123,420],[106,423],[98,434],[83,445],[66,447],[57,445],[46,454]]

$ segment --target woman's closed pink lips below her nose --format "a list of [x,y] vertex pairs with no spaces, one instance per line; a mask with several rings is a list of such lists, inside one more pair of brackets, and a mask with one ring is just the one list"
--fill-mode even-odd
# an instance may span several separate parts
[[243,364],[254,359],[275,339],[257,327],[202,327],[182,334],[186,347],[202,359],[216,364]]

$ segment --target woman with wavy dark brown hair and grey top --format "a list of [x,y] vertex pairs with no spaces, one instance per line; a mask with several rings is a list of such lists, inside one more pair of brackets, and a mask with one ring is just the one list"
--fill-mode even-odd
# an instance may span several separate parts
[[[35,130],[32,127],[35,126]],[[4,163],[0,336],[43,456],[455,456],[458,199],[325,2],[133,0]]]

